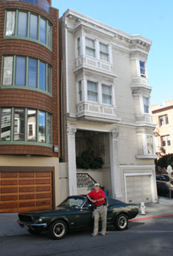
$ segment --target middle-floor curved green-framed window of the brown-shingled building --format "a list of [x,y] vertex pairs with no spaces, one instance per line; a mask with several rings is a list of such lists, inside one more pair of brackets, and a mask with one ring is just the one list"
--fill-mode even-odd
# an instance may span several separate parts
[[2,59],[2,86],[26,86],[51,94],[51,66],[35,58],[6,56]]

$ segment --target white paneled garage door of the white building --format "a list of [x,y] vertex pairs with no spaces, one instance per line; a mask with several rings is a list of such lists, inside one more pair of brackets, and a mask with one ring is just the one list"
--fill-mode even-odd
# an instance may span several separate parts
[[126,176],[126,199],[127,203],[150,203],[150,175]]

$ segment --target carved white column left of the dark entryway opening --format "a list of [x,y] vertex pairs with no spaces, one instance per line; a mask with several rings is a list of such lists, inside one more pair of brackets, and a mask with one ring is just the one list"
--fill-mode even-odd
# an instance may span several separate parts
[[69,195],[77,195],[75,133],[76,133],[76,128],[68,127],[68,186],[69,186]]

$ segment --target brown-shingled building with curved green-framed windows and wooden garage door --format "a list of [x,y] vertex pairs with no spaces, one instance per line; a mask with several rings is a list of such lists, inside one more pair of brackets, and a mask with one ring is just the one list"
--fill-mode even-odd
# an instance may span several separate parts
[[60,201],[59,12],[0,0],[0,212]]

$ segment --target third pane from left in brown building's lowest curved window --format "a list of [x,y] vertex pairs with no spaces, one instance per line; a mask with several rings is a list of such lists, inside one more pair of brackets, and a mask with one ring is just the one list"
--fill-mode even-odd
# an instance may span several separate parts
[[36,141],[36,111],[27,111],[27,141]]

